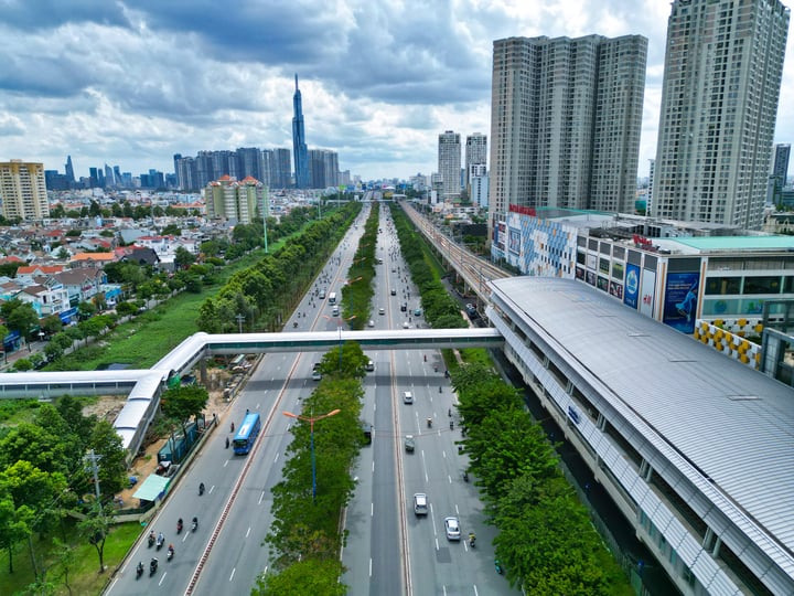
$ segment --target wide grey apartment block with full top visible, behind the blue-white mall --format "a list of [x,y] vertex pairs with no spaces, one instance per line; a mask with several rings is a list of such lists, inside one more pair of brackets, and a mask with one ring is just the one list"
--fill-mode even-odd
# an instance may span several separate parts
[[490,226],[511,204],[633,211],[646,54],[642,35],[494,42]]

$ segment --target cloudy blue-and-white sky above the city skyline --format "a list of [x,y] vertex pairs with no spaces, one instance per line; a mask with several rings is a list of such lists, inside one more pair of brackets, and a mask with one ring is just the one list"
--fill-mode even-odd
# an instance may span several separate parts
[[[785,2],[784,2],[785,3]],[[0,160],[75,175],[173,155],[307,145],[364,180],[438,169],[491,134],[494,40],[648,39],[639,175],[655,157],[669,0],[0,0]],[[790,31],[775,142],[794,140]]]

